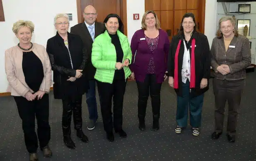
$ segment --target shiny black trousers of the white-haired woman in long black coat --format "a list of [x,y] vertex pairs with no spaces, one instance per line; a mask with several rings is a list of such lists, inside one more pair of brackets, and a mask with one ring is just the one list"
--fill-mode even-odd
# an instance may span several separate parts
[[73,121],[75,129],[82,128],[82,95],[69,96],[62,99],[63,113],[62,113],[62,130],[63,136],[70,136],[71,117],[73,113]]

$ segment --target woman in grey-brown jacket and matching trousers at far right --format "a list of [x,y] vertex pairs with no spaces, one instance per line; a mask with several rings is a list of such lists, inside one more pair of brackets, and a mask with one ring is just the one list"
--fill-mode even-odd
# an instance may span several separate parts
[[217,36],[211,47],[213,67],[213,91],[215,95],[215,131],[217,140],[223,131],[224,110],[228,101],[227,140],[235,142],[237,109],[244,88],[245,68],[251,65],[251,49],[248,38],[239,35],[232,17],[222,17]]

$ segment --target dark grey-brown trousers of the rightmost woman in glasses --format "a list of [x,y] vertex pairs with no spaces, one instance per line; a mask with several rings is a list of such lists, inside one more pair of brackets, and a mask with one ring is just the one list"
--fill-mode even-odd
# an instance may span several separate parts
[[215,132],[223,131],[224,111],[228,102],[227,133],[236,134],[237,110],[239,109],[245,80],[219,80],[213,79],[213,92],[215,95]]

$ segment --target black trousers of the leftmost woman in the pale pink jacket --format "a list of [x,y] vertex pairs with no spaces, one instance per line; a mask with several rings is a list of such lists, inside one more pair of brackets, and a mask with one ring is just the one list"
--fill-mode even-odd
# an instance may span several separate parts
[[[36,153],[38,148],[37,135],[41,148],[48,145],[51,138],[49,125],[49,96],[44,94],[42,99],[28,101],[22,96],[14,96],[19,117],[22,119],[24,140],[29,153]],[[35,118],[37,120],[37,135],[35,132]]]

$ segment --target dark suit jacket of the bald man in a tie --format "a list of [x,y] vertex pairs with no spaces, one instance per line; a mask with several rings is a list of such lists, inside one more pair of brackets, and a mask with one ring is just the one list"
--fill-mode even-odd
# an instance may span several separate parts
[[[105,26],[103,23],[100,22],[95,22],[95,34],[94,37],[99,36],[101,33],[103,33],[105,31]],[[88,79],[94,79],[94,75],[96,72],[96,68],[94,68],[94,66],[92,65],[92,61],[91,61],[91,57],[92,57],[92,37],[85,25],[85,22],[79,23],[75,26],[73,26],[70,29],[70,33],[76,34],[76,35],[80,35],[84,47],[87,51],[87,53],[89,54],[89,60],[88,63],[85,67],[85,74],[87,75]]]

